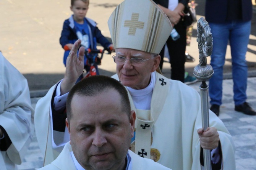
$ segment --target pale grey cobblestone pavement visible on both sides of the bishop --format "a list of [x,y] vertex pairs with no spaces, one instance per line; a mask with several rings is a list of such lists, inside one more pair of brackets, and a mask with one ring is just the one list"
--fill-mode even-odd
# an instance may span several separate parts
[[[190,85],[199,90],[200,82]],[[248,78],[248,103],[256,109],[256,77]],[[224,80],[223,82],[223,104],[220,107],[220,119],[225,123],[227,129],[233,136],[236,146],[236,166],[237,170],[256,170],[256,116],[249,116],[234,111],[233,103],[233,82]],[[40,98],[32,98],[33,106]],[[27,156],[23,164],[18,165],[19,170],[36,170],[42,167],[43,157],[40,152],[36,136],[30,144]]]

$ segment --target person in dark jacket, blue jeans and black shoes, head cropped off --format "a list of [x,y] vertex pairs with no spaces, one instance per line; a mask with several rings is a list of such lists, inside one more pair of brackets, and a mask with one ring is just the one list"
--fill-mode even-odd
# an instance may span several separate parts
[[213,38],[211,66],[214,74],[209,80],[209,96],[212,105],[210,109],[219,115],[222,104],[223,66],[229,42],[235,111],[256,115],[246,102],[248,68],[245,55],[251,32],[251,0],[206,0],[205,18],[209,22]]

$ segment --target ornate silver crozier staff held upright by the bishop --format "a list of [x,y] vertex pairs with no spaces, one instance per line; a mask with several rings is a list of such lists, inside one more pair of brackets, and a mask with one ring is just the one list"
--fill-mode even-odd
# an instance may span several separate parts
[[[197,39],[199,49],[199,64],[194,67],[193,74],[199,81],[202,81],[200,88],[202,125],[206,130],[209,127],[209,106],[208,106],[208,85],[214,71],[212,66],[207,64],[206,57],[212,54],[212,33],[208,22],[202,17],[197,21]],[[203,149],[204,169],[211,170],[211,150]]]

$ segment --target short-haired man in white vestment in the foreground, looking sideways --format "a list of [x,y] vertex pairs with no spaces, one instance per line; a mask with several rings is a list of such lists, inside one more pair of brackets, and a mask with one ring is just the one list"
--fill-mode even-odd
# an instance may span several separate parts
[[66,106],[70,143],[41,169],[169,170],[128,151],[136,115],[117,80],[102,75],[82,80],[71,89]]

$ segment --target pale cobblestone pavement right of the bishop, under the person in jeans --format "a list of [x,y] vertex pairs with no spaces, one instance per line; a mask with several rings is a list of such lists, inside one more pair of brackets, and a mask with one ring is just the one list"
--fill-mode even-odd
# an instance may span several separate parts
[[[190,85],[199,90],[200,83]],[[256,110],[256,78],[248,78],[247,102]],[[234,110],[233,81],[223,82],[223,97],[219,118],[224,122],[236,146],[237,170],[256,170],[256,116],[242,114]]]

